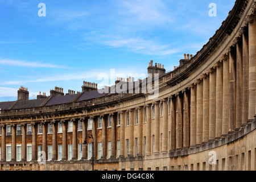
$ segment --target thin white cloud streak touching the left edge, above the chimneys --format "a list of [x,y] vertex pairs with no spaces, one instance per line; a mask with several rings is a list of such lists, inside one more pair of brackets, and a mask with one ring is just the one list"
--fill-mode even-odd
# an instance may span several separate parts
[[13,67],[32,67],[32,68],[60,68],[69,69],[67,67],[49,63],[29,62],[25,60],[0,59],[1,65],[9,65]]

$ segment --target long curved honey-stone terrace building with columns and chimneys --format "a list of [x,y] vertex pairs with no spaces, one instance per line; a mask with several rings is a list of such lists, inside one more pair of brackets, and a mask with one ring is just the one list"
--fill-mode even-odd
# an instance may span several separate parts
[[[0,102],[1,170],[255,170],[256,1],[166,72]],[[88,134],[92,138],[86,137]],[[86,143],[84,140],[86,138]],[[92,143],[93,142],[93,143]]]

